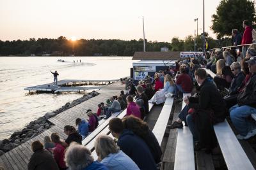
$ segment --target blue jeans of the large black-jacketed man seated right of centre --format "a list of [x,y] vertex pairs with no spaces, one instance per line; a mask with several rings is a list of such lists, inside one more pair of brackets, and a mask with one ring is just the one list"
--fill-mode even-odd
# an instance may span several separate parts
[[179,118],[180,120],[184,121],[186,124],[188,124],[189,130],[191,131],[193,135],[194,141],[199,141],[199,134],[196,130],[196,125],[193,120],[192,115],[188,114],[189,107],[186,105],[182,111],[180,111]]

